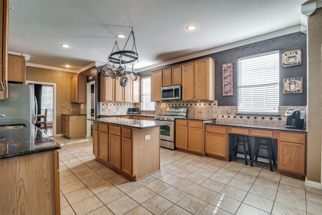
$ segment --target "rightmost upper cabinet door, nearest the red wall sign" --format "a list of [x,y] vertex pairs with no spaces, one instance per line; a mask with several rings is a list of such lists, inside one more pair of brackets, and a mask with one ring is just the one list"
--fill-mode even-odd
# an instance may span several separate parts
[[209,100],[209,59],[195,62],[195,100]]

